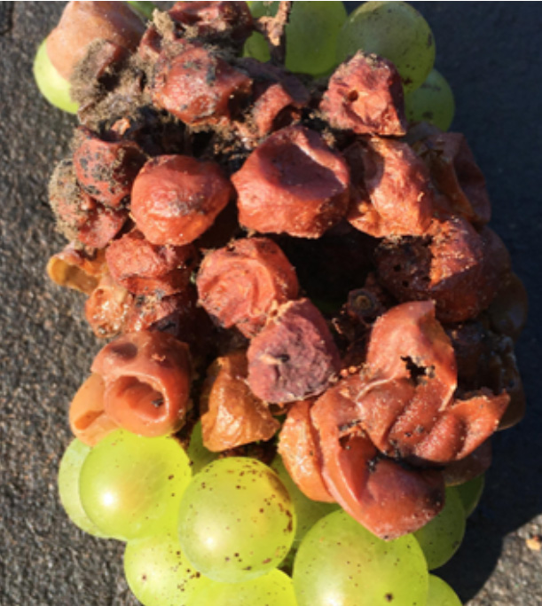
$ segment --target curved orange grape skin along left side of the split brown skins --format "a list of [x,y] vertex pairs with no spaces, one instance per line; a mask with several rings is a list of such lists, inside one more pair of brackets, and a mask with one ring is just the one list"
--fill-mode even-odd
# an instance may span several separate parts
[[299,490],[309,499],[326,503],[335,500],[322,478],[322,461],[316,429],[310,420],[310,400],[290,406],[279,434],[279,454]]

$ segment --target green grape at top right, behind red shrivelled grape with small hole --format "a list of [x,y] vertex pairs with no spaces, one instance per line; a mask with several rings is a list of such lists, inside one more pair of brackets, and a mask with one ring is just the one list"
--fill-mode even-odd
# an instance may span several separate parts
[[337,42],[337,59],[357,51],[392,61],[405,92],[417,89],[435,63],[435,38],[427,21],[405,2],[365,2],[346,20]]

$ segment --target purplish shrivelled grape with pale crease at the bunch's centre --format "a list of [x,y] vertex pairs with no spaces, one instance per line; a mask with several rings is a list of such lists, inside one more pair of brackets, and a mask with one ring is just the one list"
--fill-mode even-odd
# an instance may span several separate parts
[[326,320],[309,299],[285,303],[247,351],[248,385],[267,402],[295,402],[322,393],[341,358]]

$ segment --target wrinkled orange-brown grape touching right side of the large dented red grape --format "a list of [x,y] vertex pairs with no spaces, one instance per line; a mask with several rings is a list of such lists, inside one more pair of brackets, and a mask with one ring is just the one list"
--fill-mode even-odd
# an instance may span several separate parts
[[410,146],[374,137],[344,154],[350,174],[363,176],[352,188],[350,224],[376,238],[428,231],[433,215],[428,169]]

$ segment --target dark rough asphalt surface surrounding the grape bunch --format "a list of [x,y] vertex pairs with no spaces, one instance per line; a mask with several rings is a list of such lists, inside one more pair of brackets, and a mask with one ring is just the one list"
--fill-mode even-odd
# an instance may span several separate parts
[[[357,4],[357,3],[347,3]],[[416,2],[436,36],[436,67],[488,181],[491,226],[530,293],[517,358],[528,413],[494,439],[483,501],[452,562],[437,571],[469,606],[542,604],[542,4]],[[0,3],[0,604],[125,606],[122,545],[67,521],[57,497],[71,436],[67,405],[99,344],[82,298],[44,275],[64,246],[46,185],[75,119],[48,106],[31,71],[64,3]],[[475,285],[473,285],[475,287]]]

